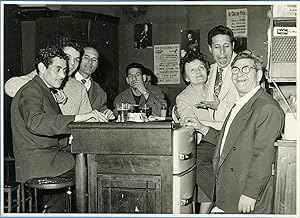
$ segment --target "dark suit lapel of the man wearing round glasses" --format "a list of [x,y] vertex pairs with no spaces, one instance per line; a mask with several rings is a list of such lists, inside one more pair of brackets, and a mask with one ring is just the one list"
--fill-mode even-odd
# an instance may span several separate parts
[[[263,94],[264,90],[261,88],[250,98],[250,100],[242,107],[242,109],[238,112],[236,117],[234,118],[231,126],[228,130],[227,138],[224,143],[223,151],[221,153],[218,168],[223,164],[224,160],[228,156],[230,150],[235,145],[235,141],[237,140],[238,136],[240,135],[242,129],[244,128],[245,124],[247,123],[250,115],[253,113],[252,105],[256,101],[259,96]],[[229,116],[228,116],[229,117]],[[225,127],[225,125],[224,125]],[[230,136],[230,137],[229,137]],[[222,136],[223,137],[223,136]],[[221,141],[219,140],[218,144],[221,146]]]

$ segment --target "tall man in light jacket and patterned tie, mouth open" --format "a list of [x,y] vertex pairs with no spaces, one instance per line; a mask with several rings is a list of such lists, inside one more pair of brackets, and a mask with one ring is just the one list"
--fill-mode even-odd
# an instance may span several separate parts
[[233,51],[233,32],[228,27],[216,26],[209,31],[207,40],[209,51],[215,60],[207,80],[208,96],[211,96],[211,99],[200,102],[199,106],[208,108],[210,116],[221,128],[230,108],[238,98],[231,80],[230,67],[236,55]]

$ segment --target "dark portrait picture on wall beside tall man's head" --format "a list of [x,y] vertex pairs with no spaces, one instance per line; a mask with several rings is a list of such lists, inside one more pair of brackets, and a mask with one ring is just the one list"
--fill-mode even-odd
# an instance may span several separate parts
[[180,36],[181,57],[184,57],[189,50],[200,50],[200,30],[181,30]]

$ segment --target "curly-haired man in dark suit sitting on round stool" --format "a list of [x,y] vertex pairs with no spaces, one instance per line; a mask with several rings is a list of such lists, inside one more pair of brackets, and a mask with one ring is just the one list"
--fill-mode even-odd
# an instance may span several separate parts
[[36,75],[15,95],[11,105],[13,149],[17,182],[31,178],[56,177],[74,167],[72,154],[65,149],[68,125],[99,116],[97,111],[62,115],[53,92],[68,72],[67,55],[57,46],[39,51]]

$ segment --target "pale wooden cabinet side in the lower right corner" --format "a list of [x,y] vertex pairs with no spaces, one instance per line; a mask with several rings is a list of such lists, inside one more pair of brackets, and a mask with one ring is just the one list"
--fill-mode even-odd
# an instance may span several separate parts
[[279,141],[274,210],[276,214],[296,214],[296,142]]

